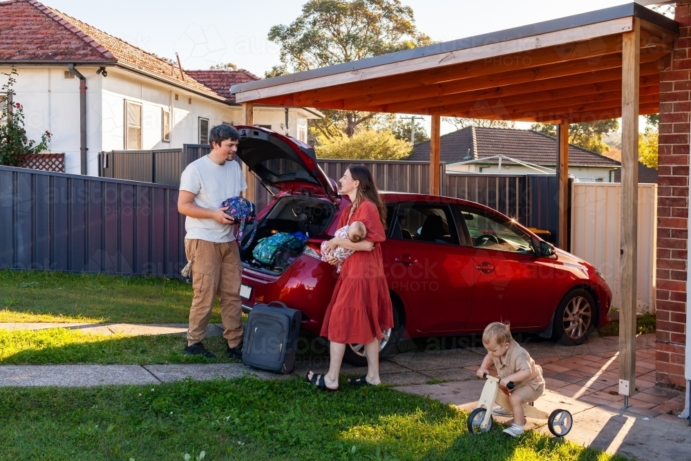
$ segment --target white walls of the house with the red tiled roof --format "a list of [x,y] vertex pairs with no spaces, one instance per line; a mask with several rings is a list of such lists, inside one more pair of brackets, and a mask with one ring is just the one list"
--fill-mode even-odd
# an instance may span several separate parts
[[[49,151],[64,152],[66,172],[81,172],[79,151],[79,79],[63,78],[67,66],[33,66],[17,68],[15,102],[26,115],[26,130],[32,140],[41,133],[53,133]],[[221,123],[240,124],[240,106],[229,106],[210,98],[183,91],[155,79],[108,67],[108,76],[97,75],[97,67],[78,67],[86,77],[87,105],[87,174],[98,175],[97,154],[100,151],[125,149],[125,101],[142,104],[142,149],[179,149],[182,144],[198,144],[199,118],[209,120],[209,128]],[[0,67],[2,72],[10,68]],[[7,78],[0,75],[0,84]],[[178,99],[175,96],[178,95]],[[162,140],[162,111],[171,111],[171,141]],[[290,135],[306,141],[307,117],[303,109],[289,111]],[[255,124],[271,125],[285,133],[283,107],[256,109]]]

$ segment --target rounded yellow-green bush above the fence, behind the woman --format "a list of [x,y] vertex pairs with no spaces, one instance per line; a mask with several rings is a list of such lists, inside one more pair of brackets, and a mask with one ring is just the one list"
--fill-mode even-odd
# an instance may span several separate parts
[[391,131],[362,130],[352,138],[321,139],[315,148],[319,158],[358,160],[400,160],[413,151],[410,142],[397,139]]

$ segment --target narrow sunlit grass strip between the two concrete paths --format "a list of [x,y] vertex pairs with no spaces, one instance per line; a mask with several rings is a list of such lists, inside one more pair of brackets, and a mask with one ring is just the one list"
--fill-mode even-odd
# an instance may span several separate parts
[[[223,337],[207,337],[204,344],[216,359],[182,354],[187,341],[181,335],[129,336],[83,333],[69,328],[0,330],[0,365],[44,364],[194,364],[232,362],[225,357]],[[327,357],[314,335],[303,332],[298,359]]]

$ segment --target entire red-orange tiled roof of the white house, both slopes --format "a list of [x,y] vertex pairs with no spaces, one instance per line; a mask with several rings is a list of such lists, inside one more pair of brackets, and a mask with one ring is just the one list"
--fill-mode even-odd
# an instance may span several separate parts
[[198,93],[228,99],[186,72],[181,74],[177,63],[47,8],[36,0],[0,3],[0,23],[0,61],[113,62]]

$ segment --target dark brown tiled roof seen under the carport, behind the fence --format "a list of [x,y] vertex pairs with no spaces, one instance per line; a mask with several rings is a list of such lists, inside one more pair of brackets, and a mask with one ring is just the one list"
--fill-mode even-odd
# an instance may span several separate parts
[[[494,156],[507,156],[543,166],[556,165],[556,139],[537,131],[506,128],[467,128],[443,135],[439,160],[446,164]],[[415,144],[408,160],[429,160],[430,142]],[[503,161],[503,160],[502,160]],[[496,163],[498,160],[492,160]],[[569,165],[577,167],[620,167],[616,160],[569,144]]]

